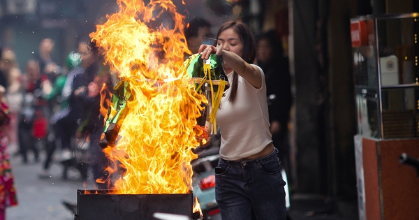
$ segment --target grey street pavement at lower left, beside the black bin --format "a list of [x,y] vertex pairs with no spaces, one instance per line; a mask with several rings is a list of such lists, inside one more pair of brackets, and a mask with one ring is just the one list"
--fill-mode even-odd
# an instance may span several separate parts
[[[9,149],[13,154],[15,149]],[[61,165],[53,163],[50,178],[39,179],[45,152],[41,152],[41,161],[34,163],[32,154],[28,163],[23,164],[20,156],[11,156],[17,202],[15,207],[6,209],[6,220],[72,220],[73,213],[66,210],[61,200],[73,203],[77,200],[77,190],[84,189],[76,170],[68,171],[68,179],[61,179]]]

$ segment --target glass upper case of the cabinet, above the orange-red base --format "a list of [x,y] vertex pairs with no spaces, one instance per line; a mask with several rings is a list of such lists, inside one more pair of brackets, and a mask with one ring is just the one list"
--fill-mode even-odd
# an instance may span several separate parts
[[358,134],[419,136],[418,13],[351,20]]

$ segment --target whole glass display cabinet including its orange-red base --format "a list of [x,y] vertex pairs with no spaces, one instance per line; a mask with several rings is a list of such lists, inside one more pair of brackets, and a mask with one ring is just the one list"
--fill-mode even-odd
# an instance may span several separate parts
[[[351,19],[360,220],[419,219],[419,13]],[[419,171],[418,171],[419,172]]]

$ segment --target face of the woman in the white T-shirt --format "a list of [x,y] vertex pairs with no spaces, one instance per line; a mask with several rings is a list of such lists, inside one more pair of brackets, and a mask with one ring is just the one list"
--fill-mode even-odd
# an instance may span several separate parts
[[[222,45],[223,50],[234,52],[235,54],[242,57],[243,54],[243,43],[240,40],[239,34],[237,34],[233,29],[226,29],[222,31],[217,39],[217,46]],[[224,65],[226,72],[230,71],[230,68],[227,65]]]

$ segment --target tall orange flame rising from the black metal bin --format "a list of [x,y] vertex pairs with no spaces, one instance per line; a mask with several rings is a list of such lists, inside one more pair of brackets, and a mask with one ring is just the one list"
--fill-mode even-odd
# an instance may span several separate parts
[[105,149],[126,169],[115,188],[129,194],[189,193],[190,161],[196,159],[191,149],[199,145],[196,135],[201,132],[196,118],[207,101],[179,71],[189,52],[184,16],[172,1],[117,3],[119,12],[108,15],[107,22],[90,34],[133,95],[117,145]]

